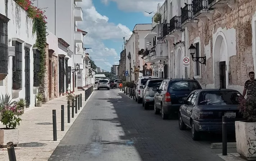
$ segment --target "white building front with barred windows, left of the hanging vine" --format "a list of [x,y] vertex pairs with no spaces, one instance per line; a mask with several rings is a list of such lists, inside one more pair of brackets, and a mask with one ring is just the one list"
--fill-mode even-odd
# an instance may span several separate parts
[[24,98],[27,108],[33,107],[38,86],[34,81],[32,19],[15,1],[0,1],[0,26],[0,94]]

